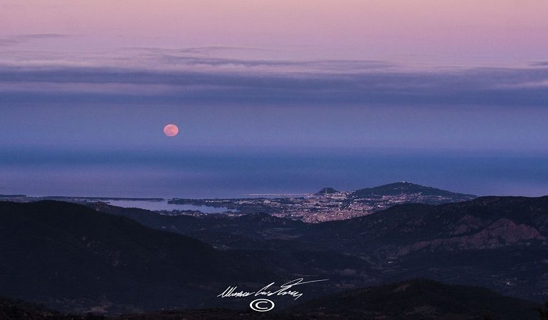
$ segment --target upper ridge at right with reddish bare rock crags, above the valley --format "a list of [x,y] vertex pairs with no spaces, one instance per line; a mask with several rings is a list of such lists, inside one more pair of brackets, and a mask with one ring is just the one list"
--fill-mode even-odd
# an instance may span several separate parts
[[[330,233],[341,245],[348,238],[364,245],[362,250],[379,245],[410,245],[409,252],[545,245],[548,196],[481,197],[439,206],[404,204],[364,217],[321,223],[314,230]],[[406,251],[394,254],[406,255]]]

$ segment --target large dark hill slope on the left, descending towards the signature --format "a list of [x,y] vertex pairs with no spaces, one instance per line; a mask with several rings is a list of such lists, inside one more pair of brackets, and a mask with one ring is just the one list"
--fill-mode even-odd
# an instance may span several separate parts
[[[253,216],[246,218],[254,223]],[[260,288],[303,275],[364,283],[342,270],[375,273],[365,260],[328,250],[216,250],[130,218],[56,201],[0,202],[0,230],[0,295],[63,311],[232,306],[216,297],[229,285]],[[308,297],[321,293],[322,286],[307,286]]]

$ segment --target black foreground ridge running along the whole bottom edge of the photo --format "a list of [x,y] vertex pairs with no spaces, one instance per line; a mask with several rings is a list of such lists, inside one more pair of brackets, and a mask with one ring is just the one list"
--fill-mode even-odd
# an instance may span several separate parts
[[65,315],[36,304],[0,298],[0,319],[539,319],[537,304],[488,289],[409,280],[313,299],[290,309],[190,309],[125,316]]

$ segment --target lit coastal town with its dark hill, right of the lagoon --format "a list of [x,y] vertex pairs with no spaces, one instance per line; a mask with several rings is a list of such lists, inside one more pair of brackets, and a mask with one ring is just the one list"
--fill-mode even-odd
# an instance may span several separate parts
[[264,212],[270,215],[320,223],[369,215],[404,203],[438,205],[472,200],[474,195],[452,193],[415,183],[399,182],[357,191],[323,188],[301,196],[273,195],[272,198],[172,199],[169,203],[215,206],[236,210],[231,215]]

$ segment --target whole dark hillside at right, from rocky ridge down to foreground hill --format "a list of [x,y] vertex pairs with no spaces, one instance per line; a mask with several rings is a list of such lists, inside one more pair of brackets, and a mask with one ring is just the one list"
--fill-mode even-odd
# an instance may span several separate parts
[[386,279],[428,277],[478,284],[541,301],[548,294],[548,196],[406,204],[321,223],[300,238],[367,256]]

